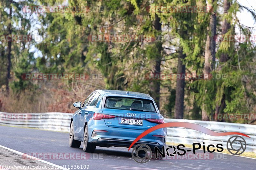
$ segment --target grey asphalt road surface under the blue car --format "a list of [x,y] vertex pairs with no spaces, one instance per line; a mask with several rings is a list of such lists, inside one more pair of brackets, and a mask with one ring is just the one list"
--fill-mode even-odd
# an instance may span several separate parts
[[[49,156],[44,156],[43,158],[48,162],[69,169],[72,169],[72,166],[74,168],[75,165],[89,165],[89,169],[121,170],[255,169],[256,165],[256,159],[220,153],[218,155],[217,153],[213,153],[210,159],[200,159],[200,156],[198,156],[193,159],[150,160],[145,164],[139,164],[132,159],[132,150],[128,152],[128,148],[117,147],[96,147],[95,153],[86,153],[86,159],[84,157],[81,159],[79,156],[84,154],[82,144],[79,149],[70,148],[68,146],[68,137],[68,133],[0,126],[0,145],[26,154],[41,154],[42,156],[42,153],[47,153],[46,155],[58,153],[58,157],[54,159]],[[202,153],[202,151],[198,152]],[[68,159],[61,158],[60,155],[64,153],[70,154],[70,157]],[[74,158],[74,155],[71,156],[72,153],[75,153],[75,156],[78,157]]]

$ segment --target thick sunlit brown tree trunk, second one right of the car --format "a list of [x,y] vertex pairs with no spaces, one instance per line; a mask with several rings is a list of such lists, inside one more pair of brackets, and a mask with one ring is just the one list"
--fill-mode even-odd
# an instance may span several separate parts
[[[209,3],[209,6],[212,6],[215,0],[212,0],[212,3]],[[212,11],[212,14],[210,15],[210,23],[207,27],[207,38],[205,42],[205,52],[204,52],[204,72],[206,74],[211,73],[211,71],[214,69],[215,66],[215,54],[216,54],[216,42],[214,40],[214,37],[216,35],[216,13]],[[204,109],[204,104],[202,107],[202,120],[203,121],[209,121],[209,116]]]

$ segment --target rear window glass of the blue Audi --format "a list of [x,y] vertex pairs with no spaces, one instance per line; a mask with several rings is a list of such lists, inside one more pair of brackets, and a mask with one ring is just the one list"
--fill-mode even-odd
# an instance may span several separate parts
[[125,97],[107,97],[105,108],[154,112],[156,109],[152,100]]

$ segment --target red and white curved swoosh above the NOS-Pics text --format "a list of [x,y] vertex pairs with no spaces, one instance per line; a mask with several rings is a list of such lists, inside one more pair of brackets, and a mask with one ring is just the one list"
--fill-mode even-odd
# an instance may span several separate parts
[[[141,133],[130,145],[128,151],[132,148],[132,145],[134,145],[136,142],[138,142],[142,137],[148,135],[150,132],[153,132],[157,129],[161,129],[161,128],[169,128],[169,127],[181,127],[181,128],[189,128],[189,129],[194,129],[197,130],[199,132],[205,133],[207,135],[211,135],[211,136],[228,136],[228,135],[241,135],[241,136],[245,136],[245,137],[249,137],[248,135],[245,135],[244,133],[240,133],[240,132],[214,132],[210,129],[207,129],[201,125],[195,124],[195,123],[188,123],[188,122],[168,122],[168,123],[163,123],[163,124],[159,124],[156,125],[146,131],[144,131],[143,133]],[[250,137],[251,138],[251,137]]]

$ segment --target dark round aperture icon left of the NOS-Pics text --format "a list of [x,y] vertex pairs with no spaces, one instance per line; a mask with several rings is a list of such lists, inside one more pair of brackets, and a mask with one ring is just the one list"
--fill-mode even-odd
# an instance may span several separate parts
[[[150,152],[150,155],[148,155]],[[137,144],[132,149],[132,159],[137,163],[144,164],[148,162],[152,157],[152,151],[150,147],[146,144]]]

